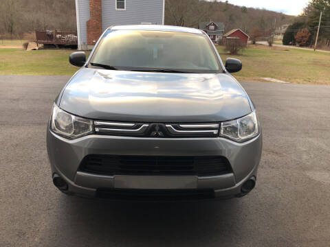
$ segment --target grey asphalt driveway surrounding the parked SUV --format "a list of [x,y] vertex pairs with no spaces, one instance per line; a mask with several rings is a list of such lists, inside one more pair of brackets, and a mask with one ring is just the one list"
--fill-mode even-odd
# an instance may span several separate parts
[[263,125],[257,187],[219,202],[67,197],[45,130],[67,77],[0,76],[0,246],[329,246],[330,86],[244,82]]

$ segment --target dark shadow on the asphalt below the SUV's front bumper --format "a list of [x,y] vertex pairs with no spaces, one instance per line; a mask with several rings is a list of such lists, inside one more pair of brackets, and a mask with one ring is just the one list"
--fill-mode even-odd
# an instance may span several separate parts
[[213,237],[231,242],[230,238],[238,234],[234,233],[235,225],[240,224],[232,219],[239,211],[237,202],[132,203],[63,195],[58,210],[64,214],[58,216],[58,224],[53,222],[52,230],[63,233],[65,242],[72,239],[72,244],[87,246],[201,246],[214,243]]

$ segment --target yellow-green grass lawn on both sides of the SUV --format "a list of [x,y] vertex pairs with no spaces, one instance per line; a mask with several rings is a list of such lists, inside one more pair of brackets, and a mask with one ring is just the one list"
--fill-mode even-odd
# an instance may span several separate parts
[[[223,47],[217,46],[217,49],[223,61],[225,58],[234,57],[243,62],[242,71],[234,73],[241,81],[264,81],[261,78],[274,78],[294,83],[330,84],[330,54],[327,53],[249,45],[241,54],[230,56]],[[73,51],[24,51],[0,47],[0,75],[73,75],[78,69],[69,64],[69,54]]]

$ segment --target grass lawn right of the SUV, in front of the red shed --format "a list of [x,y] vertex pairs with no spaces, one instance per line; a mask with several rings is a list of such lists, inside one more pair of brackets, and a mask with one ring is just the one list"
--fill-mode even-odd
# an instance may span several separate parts
[[234,73],[241,81],[263,81],[274,78],[285,82],[304,84],[330,84],[330,54],[286,47],[249,45],[241,54],[231,56],[224,47],[217,46],[223,61],[238,58],[243,69]]

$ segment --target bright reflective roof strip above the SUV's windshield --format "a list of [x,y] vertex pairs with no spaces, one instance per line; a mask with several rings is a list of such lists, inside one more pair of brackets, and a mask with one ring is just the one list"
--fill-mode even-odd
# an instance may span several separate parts
[[203,34],[201,30],[191,27],[177,27],[171,25],[116,25],[109,27],[109,30],[146,30],[146,31],[167,31],[186,32],[191,34]]

